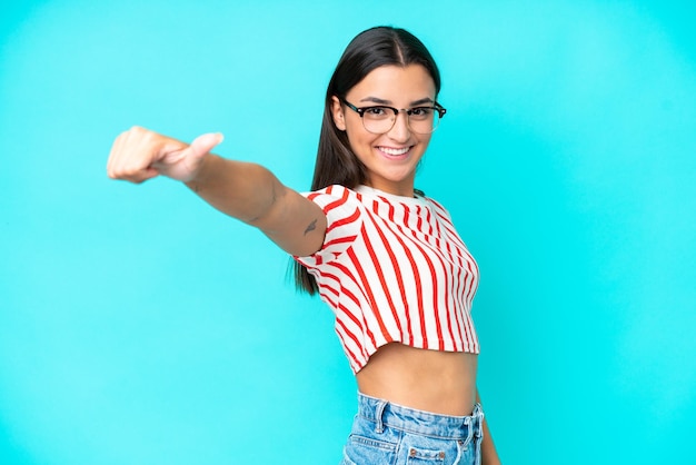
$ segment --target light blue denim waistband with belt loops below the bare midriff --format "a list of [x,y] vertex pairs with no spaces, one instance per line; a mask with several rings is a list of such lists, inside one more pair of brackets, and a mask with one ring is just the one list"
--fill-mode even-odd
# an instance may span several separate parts
[[404,407],[361,393],[358,393],[358,415],[374,422],[377,433],[381,433],[385,427],[391,427],[447,439],[467,439],[473,434],[480,436],[484,422],[480,404],[474,406],[471,415],[451,416]]

